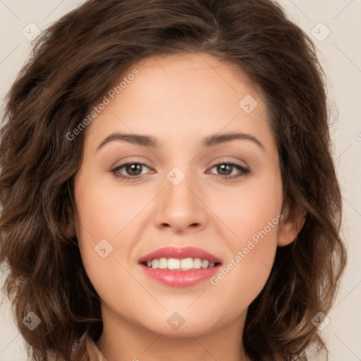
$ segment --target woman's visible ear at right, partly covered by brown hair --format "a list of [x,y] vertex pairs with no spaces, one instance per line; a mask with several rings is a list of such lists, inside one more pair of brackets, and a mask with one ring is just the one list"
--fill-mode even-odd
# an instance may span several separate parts
[[289,245],[295,240],[302,226],[305,224],[306,213],[305,209],[301,207],[293,207],[293,209],[291,209],[289,204],[286,203],[285,207],[283,207],[283,212],[281,212],[283,219],[281,219],[279,223],[277,238],[277,245],[279,247]]

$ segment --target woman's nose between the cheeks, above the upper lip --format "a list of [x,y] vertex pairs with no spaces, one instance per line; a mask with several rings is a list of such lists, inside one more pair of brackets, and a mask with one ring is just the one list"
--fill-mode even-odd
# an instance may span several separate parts
[[203,199],[204,192],[196,183],[190,176],[185,176],[178,185],[166,179],[154,216],[158,228],[170,228],[179,234],[191,229],[200,231],[207,226],[209,209]]

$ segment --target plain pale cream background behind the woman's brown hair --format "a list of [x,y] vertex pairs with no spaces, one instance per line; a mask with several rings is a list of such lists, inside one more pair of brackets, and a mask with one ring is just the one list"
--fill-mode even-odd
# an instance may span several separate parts
[[[35,33],[37,27],[44,30],[83,2],[0,0],[1,102],[30,54],[30,32]],[[331,322],[321,332],[329,345],[330,361],[361,360],[361,1],[280,0],[279,3],[290,19],[314,40],[328,78],[329,103],[333,109],[331,135],[343,190],[343,238],[348,245],[349,261],[334,307],[327,315]],[[6,303],[0,307],[0,361],[25,360],[23,338]]]

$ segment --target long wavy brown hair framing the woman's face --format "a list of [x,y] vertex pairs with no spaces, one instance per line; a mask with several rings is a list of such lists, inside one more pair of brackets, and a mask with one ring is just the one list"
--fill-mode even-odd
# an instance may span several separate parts
[[[309,360],[311,347],[328,354],[311,321],[331,309],[347,254],[326,77],[310,37],[270,0],[90,0],[36,39],[0,130],[3,291],[32,360],[69,360],[87,328],[93,338],[102,333],[99,295],[78,239],[66,233],[86,130],[76,140],[66,135],[136,61],[202,52],[262,92],[283,202],[306,212],[247,311],[245,352],[257,361]],[[30,311],[41,319],[33,331],[22,322]]]

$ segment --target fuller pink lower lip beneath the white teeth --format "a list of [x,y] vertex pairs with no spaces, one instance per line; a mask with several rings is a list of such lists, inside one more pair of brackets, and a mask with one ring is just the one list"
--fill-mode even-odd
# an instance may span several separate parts
[[169,269],[149,268],[141,264],[145,274],[156,281],[173,287],[188,287],[210,279],[221,268],[217,264],[212,268],[188,269],[186,271],[169,271]]

